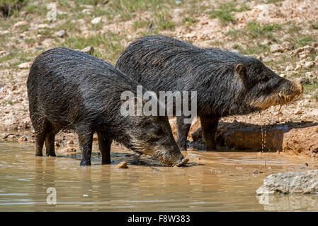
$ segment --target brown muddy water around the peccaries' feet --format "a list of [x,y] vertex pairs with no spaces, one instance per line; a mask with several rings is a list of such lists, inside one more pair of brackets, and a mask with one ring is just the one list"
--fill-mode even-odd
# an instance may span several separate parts
[[[0,142],[0,153],[0,211],[318,210],[317,196],[255,195],[268,174],[317,169],[307,157],[190,150],[188,167],[174,168],[114,145],[113,165],[100,165],[94,149],[91,167],[79,167],[79,153],[34,157],[31,144]],[[122,160],[129,169],[115,168]],[[47,203],[48,188],[56,204]]]

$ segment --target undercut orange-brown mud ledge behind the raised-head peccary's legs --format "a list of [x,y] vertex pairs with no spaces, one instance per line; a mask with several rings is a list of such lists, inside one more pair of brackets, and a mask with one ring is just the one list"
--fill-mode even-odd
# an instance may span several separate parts
[[[317,123],[261,126],[221,122],[216,134],[217,145],[232,150],[279,151],[288,155],[318,157]],[[192,139],[196,145],[204,142],[201,128],[192,133]]]

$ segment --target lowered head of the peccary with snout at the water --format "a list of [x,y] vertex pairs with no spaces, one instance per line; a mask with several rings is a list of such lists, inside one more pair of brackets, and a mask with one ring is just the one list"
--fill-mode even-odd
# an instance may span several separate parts
[[132,116],[131,120],[134,126],[127,128],[127,133],[132,150],[151,155],[166,165],[176,165],[183,160],[167,117]]

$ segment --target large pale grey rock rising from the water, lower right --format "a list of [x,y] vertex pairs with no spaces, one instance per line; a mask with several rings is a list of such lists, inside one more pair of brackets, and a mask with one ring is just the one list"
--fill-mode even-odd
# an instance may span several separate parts
[[262,194],[317,194],[318,169],[307,172],[280,172],[264,179],[263,186],[256,190]]

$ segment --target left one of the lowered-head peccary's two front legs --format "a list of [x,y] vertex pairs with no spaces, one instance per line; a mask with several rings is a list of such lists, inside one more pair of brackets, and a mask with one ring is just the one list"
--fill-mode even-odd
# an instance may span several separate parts
[[93,143],[93,131],[78,133],[81,148],[81,163],[79,165],[91,165],[91,145]]

